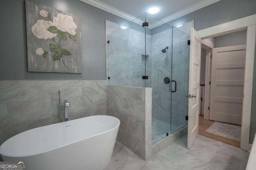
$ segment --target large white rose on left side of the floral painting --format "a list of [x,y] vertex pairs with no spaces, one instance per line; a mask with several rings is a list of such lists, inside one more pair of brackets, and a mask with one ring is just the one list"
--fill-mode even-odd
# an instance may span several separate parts
[[37,23],[35,23],[34,26],[32,26],[32,32],[36,37],[43,38],[43,39],[52,39],[57,35],[57,33],[51,33],[47,30],[50,26],[55,26],[52,21],[44,21],[44,20],[38,20]]

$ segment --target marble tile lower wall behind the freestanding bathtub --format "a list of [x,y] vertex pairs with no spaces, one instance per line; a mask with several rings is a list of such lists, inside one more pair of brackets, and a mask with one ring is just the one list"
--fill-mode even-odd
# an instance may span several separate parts
[[36,127],[60,122],[61,102],[70,100],[69,120],[107,114],[106,80],[0,81],[0,145]]

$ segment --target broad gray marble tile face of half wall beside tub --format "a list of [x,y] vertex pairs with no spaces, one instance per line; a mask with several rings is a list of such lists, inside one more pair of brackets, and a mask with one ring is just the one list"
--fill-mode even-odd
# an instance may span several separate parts
[[107,94],[108,115],[120,120],[117,141],[145,159],[145,88],[107,86]]

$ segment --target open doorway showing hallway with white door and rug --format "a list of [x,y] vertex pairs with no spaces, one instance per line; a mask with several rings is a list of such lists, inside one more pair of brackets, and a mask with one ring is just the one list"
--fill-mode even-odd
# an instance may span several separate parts
[[240,147],[246,29],[204,39],[201,50],[200,135]]

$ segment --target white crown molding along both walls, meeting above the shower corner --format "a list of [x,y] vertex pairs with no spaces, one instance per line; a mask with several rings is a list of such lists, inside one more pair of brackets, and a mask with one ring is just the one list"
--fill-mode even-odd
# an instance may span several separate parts
[[[103,2],[100,2],[98,0],[80,0],[80,1],[86,2],[87,4],[90,4],[92,6],[100,8],[100,9],[102,9],[104,11],[107,11],[107,12],[109,12],[111,14],[114,14],[114,15],[119,16],[121,18],[124,18],[126,20],[129,20],[129,21],[133,21],[134,20],[133,21],[134,23],[138,23],[140,25],[144,22],[142,20],[136,19],[136,17],[131,16],[130,14],[122,12],[121,10],[118,10],[118,9],[112,7],[112,6],[104,4]],[[218,1],[220,1],[220,0],[203,0],[202,2],[194,4],[194,5],[188,7],[186,9],[184,9],[184,10],[181,10],[180,12],[172,14],[171,16],[168,16],[168,17],[162,19],[161,21],[157,21],[156,23],[151,24],[150,28],[158,27],[159,25],[162,25],[164,23],[167,23],[167,22],[170,22],[172,20],[175,20],[175,19],[177,19],[177,18],[179,18],[181,16],[184,16],[186,14],[189,14],[191,12],[199,10],[200,8],[204,8],[204,7],[206,7],[206,6],[210,5],[210,4],[213,4],[213,3],[218,2]]]

